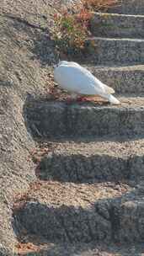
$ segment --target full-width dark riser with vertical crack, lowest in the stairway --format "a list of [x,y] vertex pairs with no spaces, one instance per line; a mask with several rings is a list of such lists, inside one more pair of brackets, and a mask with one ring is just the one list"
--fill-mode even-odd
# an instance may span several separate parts
[[119,199],[99,200],[90,209],[27,202],[16,216],[29,234],[51,243],[90,243],[93,241],[142,242],[144,205],[121,205]]

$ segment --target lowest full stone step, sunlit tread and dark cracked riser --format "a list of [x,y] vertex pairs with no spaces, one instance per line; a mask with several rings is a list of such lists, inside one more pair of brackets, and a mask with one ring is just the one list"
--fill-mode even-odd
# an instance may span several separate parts
[[13,205],[13,226],[51,243],[141,243],[143,195],[127,184],[39,182]]

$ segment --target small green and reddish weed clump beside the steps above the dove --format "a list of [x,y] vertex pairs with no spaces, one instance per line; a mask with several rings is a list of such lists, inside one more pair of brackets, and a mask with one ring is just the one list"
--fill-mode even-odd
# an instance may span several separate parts
[[55,27],[52,38],[58,51],[75,55],[84,50],[85,40],[89,32],[91,13],[82,10],[80,13],[55,14]]

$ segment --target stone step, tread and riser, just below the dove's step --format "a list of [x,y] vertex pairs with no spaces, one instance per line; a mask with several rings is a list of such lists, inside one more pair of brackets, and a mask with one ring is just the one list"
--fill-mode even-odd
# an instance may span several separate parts
[[[49,148],[50,142],[42,146]],[[53,149],[41,158],[36,170],[39,179],[74,183],[121,180],[136,183],[144,178],[144,139],[61,141],[53,142],[51,146]]]

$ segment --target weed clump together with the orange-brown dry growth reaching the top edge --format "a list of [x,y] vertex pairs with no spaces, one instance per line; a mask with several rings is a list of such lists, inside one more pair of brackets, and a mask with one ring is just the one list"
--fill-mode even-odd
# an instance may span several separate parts
[[[68,55],[77,55],[85,49],[85,42],[91,35],[89,24],[93,11],[106,10],[120,3],[120,0],[82,0],[83,8],[76,4],[74,8],[65,8],[61,13],[54,15],[54,26],[51,38],[54,40],[58,52]],[[91,43],[90,43],[91,44]],[[92,45],[89,50],[93,51]]]

